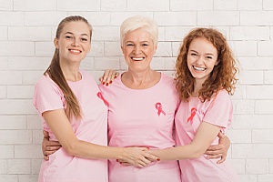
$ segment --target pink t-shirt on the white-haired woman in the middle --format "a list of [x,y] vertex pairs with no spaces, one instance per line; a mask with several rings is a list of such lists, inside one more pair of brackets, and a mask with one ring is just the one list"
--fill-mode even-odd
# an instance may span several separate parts
[[[131,89],[121,75],[109,86],[99,86],[108,103],[108,146],[167,148],[173,138],[178,105],[174,79],[161,74],[156,86]],[[125,167],[109,160],[109,182],[180,182],[177,161],[153,162],[149,167]]]

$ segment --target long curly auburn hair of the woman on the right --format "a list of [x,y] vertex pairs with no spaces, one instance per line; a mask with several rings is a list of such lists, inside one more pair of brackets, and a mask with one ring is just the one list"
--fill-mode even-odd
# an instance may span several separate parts
[[198,92],[198,97],[203,102],[210,100],[221,89],[226,89],[229,95],[233,95],[238,81],[236,77],[238,73],[238,68],[236,67],[237,60],[233,56],[225,36],[213,28],[196,28],[190,31],[184,38],[177,56],[176,80],[181,100],[187,101],[194,91],[195,79],[187,67],[187,54],[189,45],[198,37],[206,38],[207,41],[213,44],[217,48],[218,55],[218,64],[214,66],[210,76],[202,85]]

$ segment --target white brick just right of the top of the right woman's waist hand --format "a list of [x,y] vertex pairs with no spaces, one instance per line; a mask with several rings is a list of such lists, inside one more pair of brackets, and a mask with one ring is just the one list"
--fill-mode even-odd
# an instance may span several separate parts
[[[240,121],[233,121],[240,122]],[[250,129],[228,129],[227,136],[232,144],[248,144],[251,143],[251,130]]]

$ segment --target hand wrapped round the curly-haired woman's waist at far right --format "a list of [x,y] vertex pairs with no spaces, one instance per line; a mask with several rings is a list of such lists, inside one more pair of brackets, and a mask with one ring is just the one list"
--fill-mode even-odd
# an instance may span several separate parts
[[208,159],[211,158],[220,158],[217,161],[217,164],[223,163],[227,158],[227,150],[230,147],[230,140],[227,136],[222,134],[221,132],[218,133],[219,137],[219,144],[216,146],[210,146],[207,148],[205,152]]

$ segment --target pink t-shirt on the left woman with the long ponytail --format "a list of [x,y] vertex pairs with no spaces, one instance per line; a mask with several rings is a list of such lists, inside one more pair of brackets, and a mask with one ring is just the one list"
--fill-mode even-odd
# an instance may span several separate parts
[[[71,120],[71,126],[78,139],[98,145],[107,145],[107,107],[99,96],[94,78],[86,71],[80,71],[82,79],[69,82],[82,108],[83,118]],[[48,131],[51,140],[57,140],[42,114],[45,111],[65,108],[66,100],[61,89],[49,77],[43,76],[35,85],[34,105]],[[57,121],[56,121],[57,122]],[[43,161],[39,182],[107,182],[107,160],[86,159],[69,156],[63,148]]]

